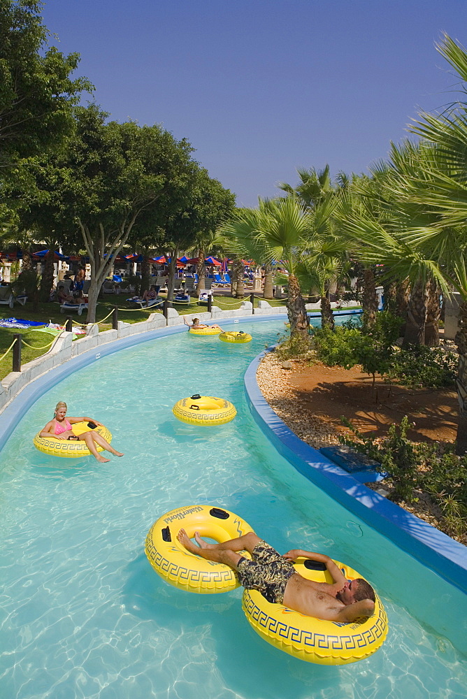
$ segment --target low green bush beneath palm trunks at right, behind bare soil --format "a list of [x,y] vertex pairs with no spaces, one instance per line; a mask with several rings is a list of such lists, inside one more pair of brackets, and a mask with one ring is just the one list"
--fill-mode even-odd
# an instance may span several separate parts
[[388,375],[410,388],[440,389],[454,386],[459,356],[439,347],[410,345],[394,352]]

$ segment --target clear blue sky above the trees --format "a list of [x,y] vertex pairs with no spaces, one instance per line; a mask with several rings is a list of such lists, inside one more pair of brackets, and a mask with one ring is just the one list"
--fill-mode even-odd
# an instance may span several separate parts
[[467,0],[48,0],[43,18],[113,119],[187,138],[238,206],[298,166],[385,158],[453,99],[441,31],[467,45]]

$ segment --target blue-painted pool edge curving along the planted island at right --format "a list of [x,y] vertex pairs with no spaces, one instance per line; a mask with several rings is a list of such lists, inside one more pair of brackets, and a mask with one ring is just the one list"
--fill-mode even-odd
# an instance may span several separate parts
[[303,442],[274,412],[257,382],[257,368],[268,347],[250,363],[245,394],[254,420],[278,452],[308,480],[403,551],[467,593],[467,547],[415,514],[367,488],[350,473]]

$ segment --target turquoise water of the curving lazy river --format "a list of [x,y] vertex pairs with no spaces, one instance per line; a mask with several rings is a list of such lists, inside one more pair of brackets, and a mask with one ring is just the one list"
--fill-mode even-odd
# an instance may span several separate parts
[[[1,699],[466,696],[466,658],[429,626],[431,609],[445,605],[452,619],[465,597],[269,445],[247,409],[243,374],[283,324],[240,327],[252,343],[182,333],[105,357],[48,391],[18,425],[1,452]],[[173,404],[194,393],[232,401],[236,419],[205,430],[176,421]],[[31,437],[59,400],[70,415],[106,424],[125,456],[99,464],[37,452]],[[197,596],[165,584],[145,559],[145,535],[161,514],[192,503],[237,512],[281,552],[299,546],[357,568],[389,615],[382,649],[342,668],[303,663],[254,633],[240,590]],[[420,597],[426,618],[414,619]]]

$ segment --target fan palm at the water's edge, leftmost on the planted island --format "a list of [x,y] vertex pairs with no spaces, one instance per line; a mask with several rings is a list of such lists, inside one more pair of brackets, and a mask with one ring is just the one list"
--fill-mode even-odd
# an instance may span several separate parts
[[312,220],[296,197],[259,199],[257,209],[241,209],[224,224],[230,249],[266,264],[282,260],[287,272],[287,315],[292,336],[308,335],[309,320],[297,269],[309,245]]

